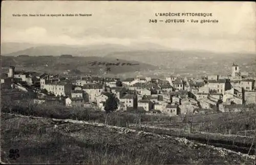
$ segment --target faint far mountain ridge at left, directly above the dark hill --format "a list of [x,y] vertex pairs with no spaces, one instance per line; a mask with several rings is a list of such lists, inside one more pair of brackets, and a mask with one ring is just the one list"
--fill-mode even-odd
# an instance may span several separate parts
[[73,56],[97,56],[103,57],[108,53],[120,51],[138,51],[138,50],[167,50],[168,48],[153,43],[133,43],[131,45],[119,44],[96,44],[87,46],[71,45],[43,45],[29,43],[2,43],[1,55],[4,56],[60,56],[61,54],[72,54]]

